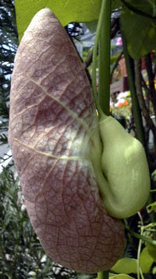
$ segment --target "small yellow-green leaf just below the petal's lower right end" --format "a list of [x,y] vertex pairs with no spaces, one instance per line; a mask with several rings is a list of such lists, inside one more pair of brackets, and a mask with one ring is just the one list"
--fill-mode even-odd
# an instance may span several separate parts
[[137,260],[135,258],[121,258],[111,270],[116,273],[137,273]]

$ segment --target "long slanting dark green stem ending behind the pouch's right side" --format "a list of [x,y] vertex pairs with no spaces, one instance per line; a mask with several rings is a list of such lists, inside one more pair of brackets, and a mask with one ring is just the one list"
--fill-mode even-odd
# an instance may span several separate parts
[[140,105],[137,99],[137,92],[135,88],[135,76],[134,71],[132,67],[132,59],[129,56],[129,52],[126,47],[126,39],[124,37],[124,31],[122,29],[122,26],[120,26],[121,34],[122,34],[122,42],[124,45],[124,58],[126,62],[126,71],[128,75],[128,81],[129,81],[129,89],[131,91],[131,100],[132,100],[132,108],[133,108],[133,116],[135,121],[135,127],[137,131],[137,138],[138,140],[144,145],[145,147],[145,140],[144,140],[144,128],[142,124],[142,114],[140,111]]

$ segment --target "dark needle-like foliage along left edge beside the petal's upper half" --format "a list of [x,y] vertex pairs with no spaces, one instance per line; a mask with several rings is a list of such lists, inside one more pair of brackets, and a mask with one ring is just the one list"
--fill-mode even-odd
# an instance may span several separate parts
[[1,1],[0,6],[0,145],[8,143],[10,75],[18,44],[13,1]]

